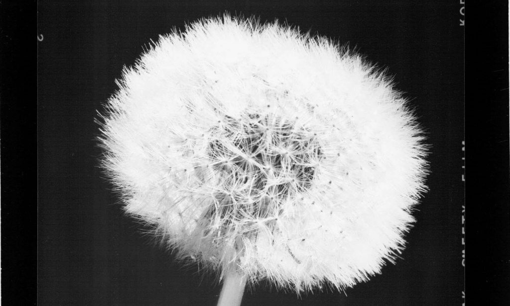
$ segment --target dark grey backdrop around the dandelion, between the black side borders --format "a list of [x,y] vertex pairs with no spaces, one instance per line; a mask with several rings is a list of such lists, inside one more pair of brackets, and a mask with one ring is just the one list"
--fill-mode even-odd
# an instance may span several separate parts
[[432,145],[417,223],[396,265],[298,298],[262,284],[243,305],[461,305],[464,27],[457,1],[39,1],[38,304],[214,305],[214,279],[174,262],[123,216],[97,167],[96,110],[150,39],[225,11],[349,43],[388,67]]

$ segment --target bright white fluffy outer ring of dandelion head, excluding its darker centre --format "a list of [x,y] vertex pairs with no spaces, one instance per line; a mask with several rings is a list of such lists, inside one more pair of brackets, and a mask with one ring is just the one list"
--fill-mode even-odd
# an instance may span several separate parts
[[[252,286],[267,280],[299,294],[367,281],[404,248],[427,190],[428,146],[391,78],[359,54],[278,22],[223,15],[161,36],[117,84],[99,115],[101,165],[125,211],[177,258],[220,278],[234,265]],[[210,252],[190,234],[206,203],[193,195],[194,169],[207,164],[201,135],[246,109],[296,118],[325,159],[303,200],[286,204],[280,233],[261,225],[272,240],[243,241],[242,256]]]

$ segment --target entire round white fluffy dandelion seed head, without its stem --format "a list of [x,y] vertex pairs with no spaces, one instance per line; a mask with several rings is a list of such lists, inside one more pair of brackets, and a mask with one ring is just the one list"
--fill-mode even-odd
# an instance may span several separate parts
[[223,16],[160,37],[118,84],[103,165],[179,258],[299,293],[366,281],[403,248],[426,147],[359,55]]

